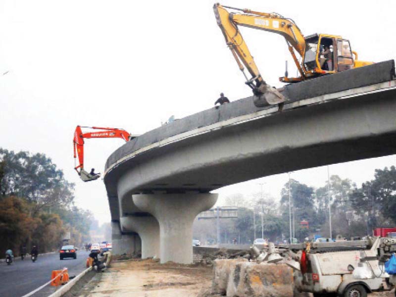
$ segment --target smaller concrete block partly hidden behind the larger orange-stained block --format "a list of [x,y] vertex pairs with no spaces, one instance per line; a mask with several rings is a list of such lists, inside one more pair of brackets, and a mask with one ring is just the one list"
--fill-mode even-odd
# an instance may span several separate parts
[[213,264],[212,294],[225,295],[230,271],[235,270],[235,265],[247,262],[247,259],[216,259]]

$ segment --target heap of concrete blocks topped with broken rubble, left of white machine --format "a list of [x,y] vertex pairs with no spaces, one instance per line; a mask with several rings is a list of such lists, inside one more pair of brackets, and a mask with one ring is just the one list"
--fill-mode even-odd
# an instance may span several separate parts
[[231,255],[220,250],[214,260],[211,294],[228,297],[293,297],[293,269],[299,269],[294,255],[282,257],[274,244],[259,250],[240,251]]

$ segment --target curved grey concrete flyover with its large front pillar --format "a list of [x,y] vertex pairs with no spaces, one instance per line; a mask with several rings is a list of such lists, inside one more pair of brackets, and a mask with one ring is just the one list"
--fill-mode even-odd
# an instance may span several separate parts
[[[289,99],[282,111],[240,99],[163,125],[112,153],[104,183],[114,234],[137,232],[144,250],[149,232],[159,250],[145,255],[155,252],[161,262],[189,263],[191,224],[215,203],[210,191],[396,153],[393,60],[280,91]],[[149,227],[138,218],[148,218]]]

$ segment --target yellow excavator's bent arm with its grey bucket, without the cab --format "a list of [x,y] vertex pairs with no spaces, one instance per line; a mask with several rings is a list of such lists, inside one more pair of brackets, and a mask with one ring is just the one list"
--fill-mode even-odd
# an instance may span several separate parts
[[[226,8],[240,10],[243,13],[228,12]],[[282,35],[286,40],[297,69],[303,79],[304,69],[301,68],[298,62],[295,50],[303,58],[305,53],[305,40],[297,25],[292,20],[284,18],[276,13],[263,13],[249,9],[239,9],[222,6],[219,3],[214,4],[213,10],[227,46],[237,61],[240,70],[245,75],[247,79],[246,84],[253,90],[253,94],[256,97],[254,100],[265,100],[267,104],[278,104],[285,101],[285,98],[276,91],[276,89],[271,88],[265,83],[238,26],[245,26]],[[247,78],[244,72],[244,65],[251,75],[250,79]]]

